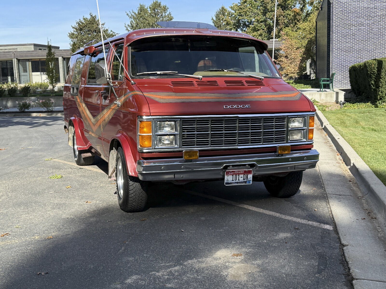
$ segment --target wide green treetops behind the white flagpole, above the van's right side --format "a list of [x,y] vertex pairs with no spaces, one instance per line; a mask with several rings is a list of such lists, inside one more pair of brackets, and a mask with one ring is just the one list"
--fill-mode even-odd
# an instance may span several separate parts
[[[298,23],[306,21],[313,12],[313,7],[317,7],[320,2],[320,0],[278,0],[276,34],[280,35],[285,28],[294,29]],[[227,24],[225,27],[229,30],[247,33],[262,40],[272,39],[274,1],[240,0],[230,6],[229,10],[225,9],[227,11],[222,7],[216,11],[214,21],[221,23],[223,20]],[[227,17],[224,18],[224,14]]]

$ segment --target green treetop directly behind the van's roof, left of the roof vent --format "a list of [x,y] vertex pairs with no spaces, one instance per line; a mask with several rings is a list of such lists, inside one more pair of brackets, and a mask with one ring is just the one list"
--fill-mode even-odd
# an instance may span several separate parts
[[169,7],[162,5],[162,3],[157,0],[154,0],[148,7],[140,3],[136,12],[131,10],[131,12],[126,12],[126,15],[130,20],[129,24],[125,23],[127,31],[156,28],[159,27],[159,25],[156,24],[157,21],[173,20]]

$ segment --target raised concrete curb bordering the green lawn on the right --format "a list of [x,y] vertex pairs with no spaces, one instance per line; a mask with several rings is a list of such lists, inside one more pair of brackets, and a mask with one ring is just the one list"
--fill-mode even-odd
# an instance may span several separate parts
[[316,111],[316,115],[320,125],[331,139],[340,156],[342,156],[352,175],[356,178],[359,187],[371,203],[375,213],[379,218],[382,218],[383,222],[386,222],[386,186],[353,150],[350,144],[328,123],[319,110]]

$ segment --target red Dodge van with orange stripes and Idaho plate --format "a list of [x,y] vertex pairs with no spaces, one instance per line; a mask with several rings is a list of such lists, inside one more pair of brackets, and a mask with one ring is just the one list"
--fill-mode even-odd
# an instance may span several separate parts
[[262,181],[275,197],[295,195],[319,160],[315,107],[283,81],[267,44],[208,24],[159,24],[71,56],[64,128],[75,162],[107,161],[125,212],[146,207],[150,182]]

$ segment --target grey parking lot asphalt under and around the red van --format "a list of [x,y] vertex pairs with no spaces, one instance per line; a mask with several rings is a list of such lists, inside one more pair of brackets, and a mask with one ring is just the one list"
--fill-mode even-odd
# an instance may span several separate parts
[[76,166],[63,125],[0,122],[1,288],[352,288],[318,168],[287,199],[163,183],[125,213],[107,163]]

